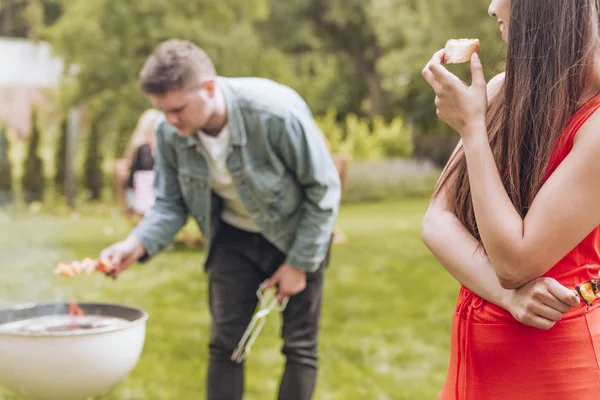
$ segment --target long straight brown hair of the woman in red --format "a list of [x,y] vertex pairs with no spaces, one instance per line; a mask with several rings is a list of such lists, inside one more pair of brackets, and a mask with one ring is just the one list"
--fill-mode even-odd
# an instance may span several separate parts
[[[540,190],[552,151],[571,115],[589,99],[598,51],[600,0],[512,0],[506,75],[490,97],[490,146],[512,203],[525,217]],[[593,93],[592,93],[593,94]],[[462,149],[446,183],[458,219],[480,239]]]

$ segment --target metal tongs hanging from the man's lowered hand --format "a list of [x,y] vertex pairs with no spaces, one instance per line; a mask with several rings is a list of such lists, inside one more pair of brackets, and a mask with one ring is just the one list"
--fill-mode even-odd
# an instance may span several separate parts
[[259,288],[256,291],[256,296],[259,300],[259,309],[252,317],[250,324],[248,324],[248,328],[246,328],[246,332],[244,332],[242,339],[240,340],[238,346],[235,348],[233,354],[231,355],[232,361],[241,363],[248,356],[248,353],[250,353],[250,349],[256,341],[258,334],[265,325],[267,315],[269,315],[274,310],[285,310],[289,298],[286,297],[283,300],[283,303],[279,304],[277,298],[275,297],[275,293],[275,288],[267,289],[266,291],[262,288]]

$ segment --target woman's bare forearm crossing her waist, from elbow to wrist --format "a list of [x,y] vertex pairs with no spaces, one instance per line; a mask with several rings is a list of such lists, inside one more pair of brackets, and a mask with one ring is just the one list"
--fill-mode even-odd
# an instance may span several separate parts
[[428,210],[422,236],[450,275],[483,299],[507,309],[513,291],[500,285],[485,252],[454,214],[442,209]]

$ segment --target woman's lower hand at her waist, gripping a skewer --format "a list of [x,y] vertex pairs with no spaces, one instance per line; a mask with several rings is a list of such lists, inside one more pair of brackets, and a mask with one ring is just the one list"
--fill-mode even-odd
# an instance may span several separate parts
[[573,290],[552,278],[539,278],[513,290],[507,310],[525,325],[548,330],[578,305],[579,297]]

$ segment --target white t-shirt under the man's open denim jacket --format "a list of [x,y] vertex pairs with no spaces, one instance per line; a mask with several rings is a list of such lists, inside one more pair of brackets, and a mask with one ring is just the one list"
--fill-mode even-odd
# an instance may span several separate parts
[[231,140],[228,126],[226,125],[217,136],[210,136],[200,131],[198,137],[206,149],[210,186],[224,202],[223,221],[245,231],[259,232],[259,227],[252,221],[248,210],[240,200],[227,169]]

